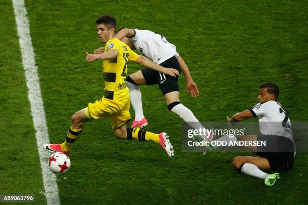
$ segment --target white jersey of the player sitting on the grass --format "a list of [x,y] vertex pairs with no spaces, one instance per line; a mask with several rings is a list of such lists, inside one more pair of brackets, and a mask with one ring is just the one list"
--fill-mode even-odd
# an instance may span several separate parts
[[262,135],[278,135],[293,141],[290,119],[279,102],[259,102],[249,110],[254,117],[258,116]]

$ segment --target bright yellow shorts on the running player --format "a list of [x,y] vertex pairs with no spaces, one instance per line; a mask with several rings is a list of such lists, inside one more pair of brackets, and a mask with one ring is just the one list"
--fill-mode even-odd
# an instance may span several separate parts
[[112,129],[116,129],[131,119],[129,105],[129,97],[119,100],[101,98],[89,103],[89,113],[94,119],[110,118]]

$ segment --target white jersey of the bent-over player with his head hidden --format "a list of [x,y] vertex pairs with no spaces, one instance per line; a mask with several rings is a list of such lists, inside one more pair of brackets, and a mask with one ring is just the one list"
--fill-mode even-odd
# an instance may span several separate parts
[[148,30],[134,29],[134,32],[135,35],[129,40],[141,55],[153,62],[161,64],[173,56],[179,56],[176,46],[169,43],[164,36]]

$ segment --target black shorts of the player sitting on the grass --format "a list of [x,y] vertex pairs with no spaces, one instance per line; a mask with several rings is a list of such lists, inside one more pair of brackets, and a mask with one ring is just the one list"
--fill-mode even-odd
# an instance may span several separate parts
[[290,139],[275,135],[259,135],[258,141],[266,141],[266,147],[258,146],[256,154],[268,160],[272,171],[292,168],[295,150]]

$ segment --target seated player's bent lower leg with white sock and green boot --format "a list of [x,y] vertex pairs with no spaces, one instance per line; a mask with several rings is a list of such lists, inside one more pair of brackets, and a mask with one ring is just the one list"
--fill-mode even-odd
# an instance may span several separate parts
[[232,166],[240,172],[264,180],[265,185],[272,186],[280,178],[278,173],[268,174],[269,161],[264,157],[239,156],[234,158]]

